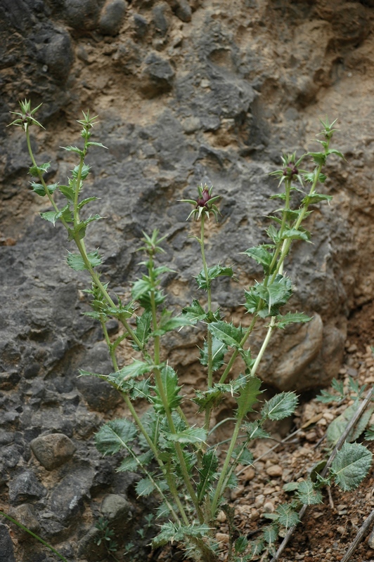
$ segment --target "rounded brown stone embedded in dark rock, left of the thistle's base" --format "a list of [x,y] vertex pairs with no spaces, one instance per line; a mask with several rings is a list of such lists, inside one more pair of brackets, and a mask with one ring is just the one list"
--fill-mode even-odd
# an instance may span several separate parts
[[47,470],[56,469],[67,462],[77,448],[72,440],[63,433],[51,433],[37,437],[32,440],[30,446],[35,457]]

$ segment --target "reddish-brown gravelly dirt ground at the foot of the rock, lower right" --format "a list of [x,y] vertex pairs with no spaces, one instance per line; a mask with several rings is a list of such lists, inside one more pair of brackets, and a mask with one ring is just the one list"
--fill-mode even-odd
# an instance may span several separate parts
[[[367,389],[374,384],[374,356],[368,345],[374,341],[373,323],[373,305],[364,306],[349,322],[346,355],[339,374],[344,388],[347,388],[349,377],[358,381],[360,386],[366,384]],[[243,469],[239,477],[240,486],[231,492],[230,504],[235,509],[238,531],[251,540],[259,536],[264,525],[269,524],[264,514],[290,500],[290,494],[284,492],[283,485],[304,478],[318,461],[327,458],[326,429],[352,403],[352,400],[343,400],[339,404],[324,404],[314,397],[307,398],[297,408],[292,426],[278,427],[278,434],[273,433],[273,442],[257,441],[254,457],[259,460],[253,468]],[[373,417],[369,424],[373,424]],[[290,437],[295,431],[297,433]],[[373,441],[365,441],[362,436],[360,441],[374,452]],[[274,445],[278,446],[274,448]],[[373,509],[373,469],[353,492],[343,492],[337,487],[325,490],[323,503],[307,508],[279,562],[340,562]],[[372,530],[373,525],[349,557],[350,561],[374,561],[374,538],[370,540]],[[217,528],[217,539],[222,543],[228,542],[228,525],[223,513],[221,525]],[[183,554],[174,545],[154,551],[149,559],[152,562],[183,560]],[[222,556],[221,560],[225,559]],[[271,556],[257,558],[262,562],[270,559]]]

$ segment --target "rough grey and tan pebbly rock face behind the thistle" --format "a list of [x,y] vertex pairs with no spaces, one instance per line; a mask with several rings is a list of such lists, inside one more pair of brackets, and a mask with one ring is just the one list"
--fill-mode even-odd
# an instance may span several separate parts
[[[373,299],[372,4],[245,0],[228,13],[224,0],[1,3],[0,493],[15,509],[34,508],[44,537],[66,556],[91,556],[96,497],[126,495],[132,481],[120,485],[115,460],[94,449],[100,412],[120,397],[99,379],[77,379],[79,368],[112,367],[100,326],[82,316],[86,277],[63,264],[65,233],[41,221],[49,207],[27,189],[27,147],[22,131],[6,128],[8,112],[18,99],[43,103],[46,131],[33,132],[32,147],[38,162],[51,161],[49,181],[62,184],[76,162],[59,147],[79,143],[82,109],[100,116],[93,140],[108,150],[91,150],[87,197],[101,197],[106,219],[87,241],[101,247],[103,280],[117,294],[139,273],[143,230],[159,228],[162,263],[177,272],[165,281],[169,303],[186,306],[198,295],[198,247],[187,237],[195,230],[178,200],[213,183],[221,218],[209,230],[207,260],[233,264],[240,280],[217,281],[214,301],[243,324],[238,303],[261,270],[240,251],[266,242],[277,190],[268,174],[281,152],[314,147],[318,118],[339,117],[346,161],[328,166],[333,202],[315,209],[313,245],[295,244],[285,266],[295,284],[290,306],[314,320],[276,334],[260,373],[277,388],[323,386],[340,368],[349,313]],[[169,339],[186,388],[204,376],[191,355],[196,344],[198,331]],[[125,349],[122,359],[130,355]],[[134,537],[137,509],[123,515],[134,518]],[[8,544],[6,532],[1,540]],[[22,548],[18,558],[32,562]]]

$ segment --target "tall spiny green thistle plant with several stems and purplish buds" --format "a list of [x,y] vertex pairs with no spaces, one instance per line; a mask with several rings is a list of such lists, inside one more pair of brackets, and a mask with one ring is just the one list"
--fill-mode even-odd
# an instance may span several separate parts
[[[243,252],[248,259],[253,259],[262,266],[264,277],[244,289],[245,308],[250,315],[248,327],[234,325],[221,316],[219,309],[214,309],[212,290],[221,276],[233,277],[231,267],[221,263],[208,265],[205,254],[205,230],[214,217],[219,220],[220,196],[214,193],[212,186],[200,185],[196,198],[183,200],[192,204],[188,218],[200,222],[200,235],[195,240],[200,246],[202,269],[195,277],[198,289],[206,293],[204,304],[194,299],[179,314],[167,308],[167,296],[162,287],[162,277],[171,270],[167,266],[157,265],[157,256],[162,253],[164,237],[158,230],[144,233],[142,247],[145,259],[141,261],[144,273],[131,287],[131,300],[122,302],[117,296],[110,296],[108,284],[101,280],[99,273],[102,257],[98,250],[87,251],[85,237],[89,225],[101,220],[98,214],[86,216],[89,204],[96,197],[84,198],[84,181],[89,176],[89,166],[85,164],[87,153],[93,148],[105,148],[101,143],[91,141],[91,130],[96,117],[89,112],[79,120],[82,125],[83,147],[67,146],[65,150],[77,154],[78,163],[72,170],[67,185],[54,183],[47,185],[44,174],[49,163],[37,164],[30,144],[30,127],[41,126],[34,118],[38,108],[31,110],[30,102],[20,103],[21,111],[13,124],[22,126],[27,138],[27,147],[32,167],[30,174],[37,181],[31,187],[37,195],[47,197],[53,210],[41,213],[41,218],[55,225],[58,221],[67,230],[67,239],[75,244],[76,251],[67,255],[67,265],[74,270],[86,270],[91,278],[87,293],[91,298],[91,312],[86,313],[100,322],[105,341],[108,344],[113,371],[108,375],[80,371],[80,376],[98,377],[108,382],[119,391],[127,405],[132,419],[112,419],[104,424],[96,434],[96,447],[103,455],[113,455],[122,451],[124,458],[119,471],[139,471],[142,478],[136,485],[139,496],[155,494],[160,499],[157,517],[160,532],[153,539],[153,546],[169,541],[179,542],[188,555],[195,561],[216,562],[220,547],[215,540],[217,514],[221,509],[228,514],[231,507],[226,499],[226,491],[236,486],[238,466],[251,464],[253,457],[250,444],[256,438],[267,438],[266,421],[280,420],[290,416],[297,405],[297,396],[293,392],[278,393],[257,407],[257,418],[248,414],[254,412],[259,402],[262,381],[257,377],[259,364],[269,345],[274,330],[284,329],[295,322],[309,322],[304,313],[283,313],[283,307],[292,296],[292,282],[284,273],[285,260],[292,242],[301,240],[310,242],[311,234],[304,227],[304,221],[311,214],[311,206],[329,201],[330,195],[318,192],[318,186],[325,181],[323,167],[330,155],[342,157],[342,154],[330,148],[335,133],[335,122],[322,122],[323,129],[318,138],[320,152],[309,152],[297,159],[295,153],[283,156],[283,166],[273,172],[279,180],[279,192],[272,196],[281,204],[270,217],[271,224],[266,233],[269,242],[251,247]],[[313,169],[301,169],[306,158],[311,159]],[[65,204],[58,207],[54,193],[60,192]],[[297,201],[294,204],[294,193]],[[300,197],[300,193],[302,196]],[[86,218],[82,218],[86,216]],[[124,329],[120,336],[112,341],[108,334],[107,322],[117,318]],[[265,323],[266,334],[257,355],[252,355],[250,336],[257,322]],[[206,372],[205,388],[196,388],[192,400],[202,413],[202,424],[186,418],[183,404],[183,388],[179,385],[178,374],[169,363],[162,360],[162,338],[168,332],[202,323],[206,329],[205,344],[200,351],[202,370]],[[128,365],[119,365],[117,348],[127,339],[140,358]],[[233,366],[240,365],[241,372],[233,377]],[[236,400],[233,414],[235,424],[231,439],[227,443],[217,443],[212,426],[214,411],[226,396]],[[140,415],[136,401],[148,402],[148,410]],[[354,455],[361,455],[362,445],[354,445]],[[364,447],[363,447],[364,448]],[[141,451],[139,453],[139,450]],[[370,459],[361,455],[362,470],[360,478],[368,471]],[[361,458],[360,457],[360,458]],[[337,481],[344,482],[346,489],[358,485],[354,481],[344,480],[344,463],[349,465],[349,455],[340,459]],[[344,465],[344,466],[343,466]],[[342,468],[343,466],[343,468]],[[337,470],[330,477],[336,476]],[[306,482],[297,488],[297,500],[280,505],[273,515],[273,521],[266,525],[261,539],[249,542],[246,537],[234,532],[229,525],[231,539],[227,551],[228,561],[248,561],[264,551],[272,554],[280,528],[288,528],[297,522],[299,503],[310,504],[321,501],[321,492],[317,489],[326,482]],[[353,483],[352,483],[353,482]]]

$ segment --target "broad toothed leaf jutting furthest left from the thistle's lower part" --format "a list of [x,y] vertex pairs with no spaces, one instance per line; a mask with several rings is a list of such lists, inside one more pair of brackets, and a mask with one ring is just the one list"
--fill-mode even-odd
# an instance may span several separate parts
[[136,426],[128,419],[112,419],[96,433],[95,445],[103,455],[114,455],[136,438]]

